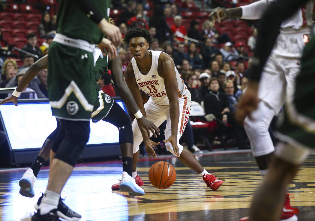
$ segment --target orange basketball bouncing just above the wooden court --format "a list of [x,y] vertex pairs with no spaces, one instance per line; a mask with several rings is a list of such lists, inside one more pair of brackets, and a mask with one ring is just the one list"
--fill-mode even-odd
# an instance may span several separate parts
[[174,184],[176,171],[172,164],[159,161],[152,165],[149,170],[150,183],[158,189],[166,189]]

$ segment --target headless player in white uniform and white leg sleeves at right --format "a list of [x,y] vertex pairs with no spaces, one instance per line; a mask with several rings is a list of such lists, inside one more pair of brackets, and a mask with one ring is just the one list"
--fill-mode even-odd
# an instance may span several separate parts
[[[217,8],[210,14],[209,18],[213,21],[218,20],[218,22],[231,17],[260,19],[269,4],[274,1],[260,0],[232,9]],[[312,25],[313,7],[314,2],[309,1],[289,19],[282,22],[280,34],[269,58],[266,57],[268,59],[261,74],[258,87],[258,98],[260,99],[258,108],[244,120],[244,127],[250,140],[252,152],[262,176],[268,172],[267,165],[274,152],[268,128],[273,116],[278,114],[287,95],[290,95],[290,91],[294,87],[295,77],[300,71],[302,50]],[[269,33],[265,32],[264,34],[268,37]],[[263,58],[253,59],[254,66],[259,63],[260,59]],[[252,80],[255,80],[255,76]],[[292,210],[292,208],[288,209],[287,207],[289,207],[289,196],[286,197],[284,207],[286,209],[284,211]],[[297,209],[295,211],[298,213]],[[288,214],[283,212],[281,220],[289,219],[293,220],[292,216],[288,217]]]

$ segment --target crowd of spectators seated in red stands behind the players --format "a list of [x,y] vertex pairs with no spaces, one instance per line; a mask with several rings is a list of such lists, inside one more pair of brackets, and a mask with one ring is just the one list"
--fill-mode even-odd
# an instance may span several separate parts
[[[140,26],[147,29],[154,38],[150,43],[150,50],[161,50],[173,58],[176,68],[192,93],[192,100],[202,105],[206,115],[210,114],[211,119],[217,122],[215,137],[222,146],[225,146],[223,138],[231,131],[234,133],[233,139],[239,144],[244,136],[236,132],[239,126],[233,120],[232,113],[237,108],[238,99],[247,84],[247,68],[251,62],[249,55],[255,47],[257,29],[253,29],[253,36],[248,39],[247,44],[250,48],[248,50],[243,41],[232,41],[234,38],[230,36],[231,34],[219,34],[212,21],[190,20],[190,26],[187,27],[182,17],[182,12],[188,11],[185,3],[185,0],[154,1],[155,8],[149,16],[147,9],[150,5],[146,1],[129,1],[126,5],[117,1],[115,6],[121,13],[114,18],[114,22],[119,26],[123,36],[131,27]],[[8,45],[0,28],[1,88],[15,87],[27,68],[48,54],[55,30],[56,16],[43,13],[38,32],[27,34],[27,44],[22,48],[37,56],[20,52],[19,58],[23,59],[23,65],[18,67],[14,59],[5,59],[2,54],[3,50],[8,49]],[[38,37],[46,38],[46,41],[38,45]],[[128,45],[122,42],[117,52],[123,61],[122,69],[125,71],[132,59]],[[112,87],[110,74],[104,73],[98,83],[106,93],[111,96],[118,95]],[[48,97],[47,71],[38,73],[28,88],[34,90],[38,98]],[[241,145],[240,147],[242,148]]]

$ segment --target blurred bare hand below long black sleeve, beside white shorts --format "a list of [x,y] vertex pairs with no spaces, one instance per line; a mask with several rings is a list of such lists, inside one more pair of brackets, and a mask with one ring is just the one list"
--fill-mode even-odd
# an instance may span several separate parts
[[251,82],[238,103],[238,108],[235,111],[235,119],[243,124],[247,115],[251,118],[250,114],[257,109],[259,101],[258,83]]

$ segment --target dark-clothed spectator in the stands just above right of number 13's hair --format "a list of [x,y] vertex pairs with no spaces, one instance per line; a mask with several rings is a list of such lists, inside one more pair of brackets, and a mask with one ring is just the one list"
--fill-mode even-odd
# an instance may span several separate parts
[[156,28],[156,36],[159,42],[170,43],[172,39],[172,30],[166,24],[163,9],[159,6],[156,6],[153,12],[153,16],[150,18],[150,26]]

